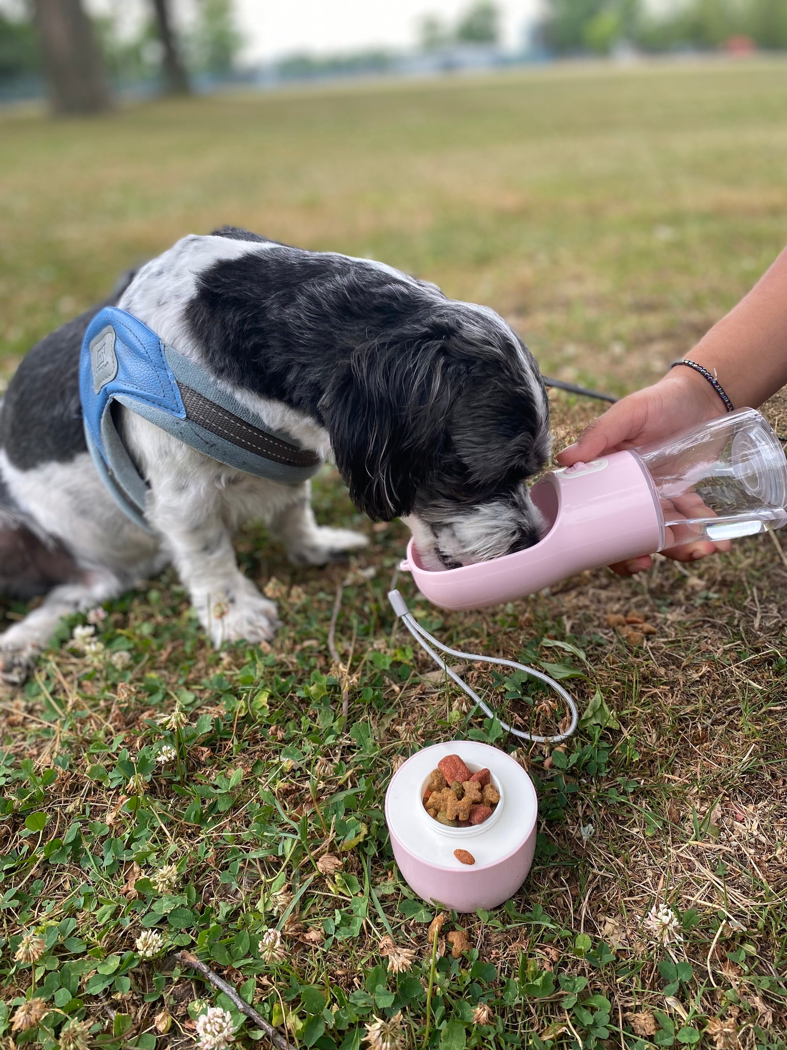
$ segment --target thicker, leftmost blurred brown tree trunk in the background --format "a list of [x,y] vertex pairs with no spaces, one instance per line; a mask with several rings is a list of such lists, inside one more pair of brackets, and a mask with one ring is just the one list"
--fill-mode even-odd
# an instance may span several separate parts
[[35,0],[34,10],[55,112],[109,109],[104,60],[82,0]]

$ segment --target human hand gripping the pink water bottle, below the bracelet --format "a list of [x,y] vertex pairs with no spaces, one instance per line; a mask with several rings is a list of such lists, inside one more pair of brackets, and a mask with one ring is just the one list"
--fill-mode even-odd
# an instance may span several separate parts
[[[630,394],[603,416],[594,419],[578,440],[557,455],[562,466],[588,462],[604,453],[635,448],[660,441],[684,429],[724,415],[724,405],[712,386],[692,369],[668,372],[653,386]],[[678,562],[694,562],[715,551],[729,550],[728,540],[711,543],[697,540],[665,551]],[[650,554],[612,565],[620,575],[632,575],[653,565]]]

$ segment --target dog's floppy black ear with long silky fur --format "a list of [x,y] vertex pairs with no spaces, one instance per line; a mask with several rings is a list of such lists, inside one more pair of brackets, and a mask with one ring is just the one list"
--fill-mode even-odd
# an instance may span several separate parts
[[357,346],[320,402],[336,465],[373,521],[410,513],[448,441],[455,366],[440,341]]

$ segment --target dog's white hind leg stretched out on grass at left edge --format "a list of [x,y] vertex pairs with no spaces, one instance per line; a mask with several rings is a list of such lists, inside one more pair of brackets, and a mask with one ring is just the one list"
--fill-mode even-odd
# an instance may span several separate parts
[[116,597],[127,586],[109,571],[85,571],[78,582],[55,587],[37,609],[0,634],[0,678],[23,682],[62,616]]

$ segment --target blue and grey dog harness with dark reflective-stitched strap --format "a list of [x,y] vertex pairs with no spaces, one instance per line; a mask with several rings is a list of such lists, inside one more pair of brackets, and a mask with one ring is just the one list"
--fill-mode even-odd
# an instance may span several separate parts
[[82,343],[80,397],[85,438],[107,489],[131,521],[148,532],[148,485],[118,433],[112,407],[122,404],[211,459],[258,478],[298,484],[322,460],[265,426],[200,365],[162,342],[136,317],[106,307]]

